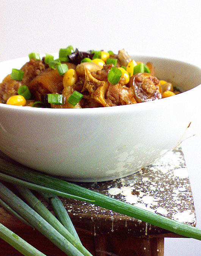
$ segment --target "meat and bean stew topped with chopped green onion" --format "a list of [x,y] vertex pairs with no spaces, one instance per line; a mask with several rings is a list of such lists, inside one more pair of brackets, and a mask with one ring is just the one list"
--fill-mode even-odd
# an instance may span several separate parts
[[54,60],[36,53],[0,84],[0,102],[50,108],[111,107],[153,101],[179,93],[155,76],[151,62],[133,60],[124,49],[105,51],[60,49]]

